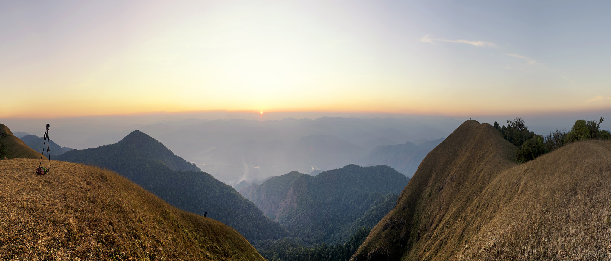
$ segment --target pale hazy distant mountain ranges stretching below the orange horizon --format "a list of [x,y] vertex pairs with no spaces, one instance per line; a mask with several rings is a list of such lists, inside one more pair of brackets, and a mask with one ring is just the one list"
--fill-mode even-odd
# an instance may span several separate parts
[[[344,118],[315,120],[197,120],[117,124],[124,118],[52,123],[50,137],[61,146],[84,149],[116,143],[142,131],[226,184],[263,180],[291,171],[341,168],[379,145],[447,137],[461,122],[435,118]],[[134,123],[145,122],[142,119]],[[38,134],[29,129],[20,131]],[[327,151],[327,149],[329,149]]]

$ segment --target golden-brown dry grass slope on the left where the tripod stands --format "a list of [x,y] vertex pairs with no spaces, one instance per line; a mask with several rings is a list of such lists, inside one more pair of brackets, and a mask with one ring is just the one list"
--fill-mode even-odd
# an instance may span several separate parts
[[0,160],[0,260],[264,260],[238,232],[108,170]]

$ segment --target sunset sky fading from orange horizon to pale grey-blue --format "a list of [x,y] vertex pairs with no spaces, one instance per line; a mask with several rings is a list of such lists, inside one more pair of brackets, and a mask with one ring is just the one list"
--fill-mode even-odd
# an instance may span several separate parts
[[0,118],[611,109],[611,2],[0,1]]

